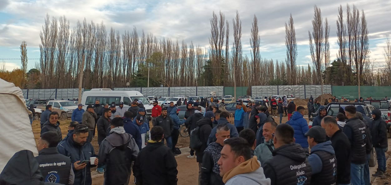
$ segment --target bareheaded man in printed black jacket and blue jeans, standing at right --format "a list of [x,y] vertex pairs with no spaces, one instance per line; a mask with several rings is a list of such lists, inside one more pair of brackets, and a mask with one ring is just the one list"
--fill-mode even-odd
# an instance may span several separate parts
[[356,107],[353,105],[345,107],[345,116],[348,118],[343,132],[348,137],[352,152],[350,158],[350,177],[351,183],[364,183],[364,164],[366,161],[366,141],[368,141],[368,133],[366,133],[366,126],[356,116]]

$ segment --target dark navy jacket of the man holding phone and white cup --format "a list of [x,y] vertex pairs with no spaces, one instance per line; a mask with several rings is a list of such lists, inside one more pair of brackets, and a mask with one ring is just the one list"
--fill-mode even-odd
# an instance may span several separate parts
[[91,167],[96,165],[91,165],[90,162],[87,162],[85,168],[81,170],[75,170],[74,163],[78,160],[90,160],[90,157],[97,157],[95,151],[90,142],[85,142],[83,146],[76,144],[73,141],[72,137],[68,137],[65,141],[61,141],[57,146],[58,153],[65,155],[71,159],[72,169],[75,173],[74,184],[83,184],[91,185]]

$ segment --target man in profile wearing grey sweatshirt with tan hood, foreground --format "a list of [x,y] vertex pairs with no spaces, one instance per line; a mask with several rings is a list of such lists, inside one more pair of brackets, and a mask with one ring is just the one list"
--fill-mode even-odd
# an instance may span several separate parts
[[251,149],[241,137],[224,141],[217,164],[225,185],[270,185],[270,179],[265,177],[260,162],[256,156],[251,158]]

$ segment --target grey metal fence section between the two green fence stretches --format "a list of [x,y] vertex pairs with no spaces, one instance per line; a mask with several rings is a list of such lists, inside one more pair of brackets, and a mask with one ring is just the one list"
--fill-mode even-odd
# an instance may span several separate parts
[[332,93],[331,85],[264,85],[251,86],[251,96],[293,95],[298,98],[320,96],[323,93]]

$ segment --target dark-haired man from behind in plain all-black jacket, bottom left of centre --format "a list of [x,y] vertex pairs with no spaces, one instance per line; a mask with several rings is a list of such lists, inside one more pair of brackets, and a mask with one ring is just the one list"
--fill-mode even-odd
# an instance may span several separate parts
[[151,129],[151,140],[138,153],[133,165],[133,174],[137,179],[136,185],[177,184],[176,160],[171,149],[161,142],[164,138],[163,132],[161,126],[154,126]]

